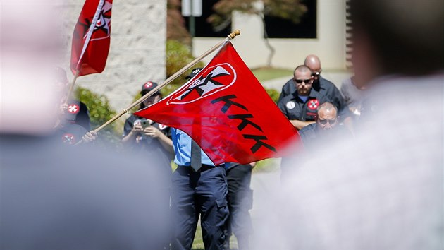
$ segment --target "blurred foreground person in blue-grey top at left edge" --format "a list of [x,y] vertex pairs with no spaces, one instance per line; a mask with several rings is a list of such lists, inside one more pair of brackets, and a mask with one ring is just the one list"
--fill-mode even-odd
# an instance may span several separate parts
[[0,4],[0,249],[161,249],[156,159],[54,138],[60,3]]

